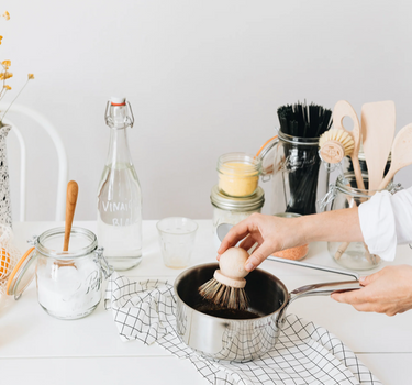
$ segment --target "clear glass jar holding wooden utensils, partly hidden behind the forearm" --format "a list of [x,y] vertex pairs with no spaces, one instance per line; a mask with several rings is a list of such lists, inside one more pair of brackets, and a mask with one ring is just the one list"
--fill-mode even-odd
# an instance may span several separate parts
[[[363,178],[365,188],[368,188],[367,174],[363,174]],[[354,173],[345,173],[345,177],[339,175],[336,184],[327,193],[326,200],[331,202],[331,210],[359,206],[370,199],[376,193],[358,189],[356,186]],[[369,253],[363,242],[327,242],[327,250],[336,263],[348,270],[371,270],[378,267],[381,262],[378,255]]]

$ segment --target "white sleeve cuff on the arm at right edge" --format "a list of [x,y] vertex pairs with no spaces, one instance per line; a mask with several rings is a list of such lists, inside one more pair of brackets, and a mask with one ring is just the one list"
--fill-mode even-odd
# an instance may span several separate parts
[[375,194],[359,206],[359,222],[369,252],[393,261],[397,244],[412,242],[412,187]]

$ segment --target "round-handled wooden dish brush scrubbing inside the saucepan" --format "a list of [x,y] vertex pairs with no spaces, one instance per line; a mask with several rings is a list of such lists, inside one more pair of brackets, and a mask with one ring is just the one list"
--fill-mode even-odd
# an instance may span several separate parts
[[242,248],[230,248],[220,257],[220,270],[213,278],[199,287],[200,295],[222,308],[246,310],[248,299],[245,292],[248,272],[244,265],[249,254]]

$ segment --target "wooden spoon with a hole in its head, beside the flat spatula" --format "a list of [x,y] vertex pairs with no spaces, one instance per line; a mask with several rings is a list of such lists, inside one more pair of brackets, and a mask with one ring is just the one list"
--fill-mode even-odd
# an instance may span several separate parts
[[[349,117],[354,122],[354,129],[352,131],[346,130],[343,124],[343,120],[345,117]],[[354,140],[354,150],[350,154],[352,165],[355,172],[357,188],[365,189],[364,178],[361,177],[361,170],[360,170],[359,158],[358,158],[359,146],[360,146],[359,119],[354,108],[346,100],[339,100],[335,105],[333,109],[332,119],[333,119],[333,125],[335,129],[345,130],[347,133],[352,135]]]

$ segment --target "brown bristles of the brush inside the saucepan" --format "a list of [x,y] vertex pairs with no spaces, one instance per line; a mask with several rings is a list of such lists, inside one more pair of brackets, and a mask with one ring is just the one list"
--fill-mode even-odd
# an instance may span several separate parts
[[248,299],[244,288],[235,288],[210,279],[199,287],[199,294],[207,300],[226,309],[247,310]]

